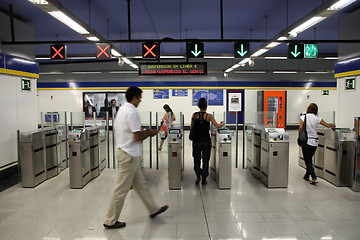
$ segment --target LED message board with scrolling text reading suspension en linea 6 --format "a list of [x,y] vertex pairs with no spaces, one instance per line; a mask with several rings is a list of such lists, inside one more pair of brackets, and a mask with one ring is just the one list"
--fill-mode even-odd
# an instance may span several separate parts
[[139,75],[206,75],[207,64],[199,63],[140,63]]

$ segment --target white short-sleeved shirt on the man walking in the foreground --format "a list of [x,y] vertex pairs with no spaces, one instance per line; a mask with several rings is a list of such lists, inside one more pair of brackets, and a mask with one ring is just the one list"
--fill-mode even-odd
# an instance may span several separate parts
[[121,148],[130,156],[141,156],[141,142],[136,141],[133,134],[141,131],[141,121],[133,104],[126,102],[119,108],[114,122],[114,131],[117,148]]

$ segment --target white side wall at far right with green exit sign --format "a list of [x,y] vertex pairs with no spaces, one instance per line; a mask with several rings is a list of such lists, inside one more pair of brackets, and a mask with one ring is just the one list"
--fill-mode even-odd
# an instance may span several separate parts
[[360,103],[360,76],[355,79],[356,90],[345,90],[345,79],[337,79],[338,89],[338,106],[336,116],[336,126],[342,128],[354,128],[354,117],[360,117],[360,107],[357,105]]

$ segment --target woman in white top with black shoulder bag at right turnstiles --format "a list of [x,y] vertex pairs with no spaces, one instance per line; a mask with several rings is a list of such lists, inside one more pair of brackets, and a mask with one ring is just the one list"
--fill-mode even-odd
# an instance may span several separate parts
[[[307,132],[307,141],[301,146],[304,161],[306,164],[306,173],[304,175],[304,180],[309,181],[309,177],[311,176],[310,184],[316,184],[316,174],[314,171],[314,167],[312,164],[312,158],[315,154],[316,148],[318,146],[318,135],[317,135],[317,127],[319,124],[328,127],[334,128],[335,124],[329,124],[325,122],[321,117],[317,116],[318,106],[315,103],[310,103],[306,109],[306,114],[300,117],[300,128],[299,128],[299,136],[301,132],[304,130]],[[304,122],[306,126],[304,126]],[[305,127],[305,129],[303,129]]]

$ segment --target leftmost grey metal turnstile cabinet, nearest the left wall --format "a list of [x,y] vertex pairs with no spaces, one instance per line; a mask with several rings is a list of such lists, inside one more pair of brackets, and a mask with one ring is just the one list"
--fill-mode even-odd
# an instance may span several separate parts
[[46,180],[45,132],[20,133],[20,168],[23,187],[35,187]]

